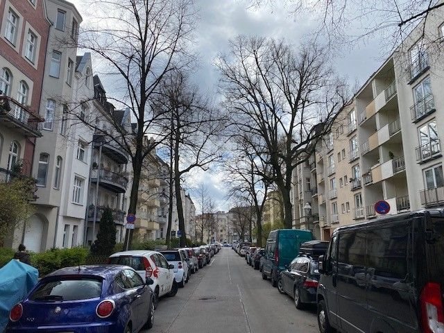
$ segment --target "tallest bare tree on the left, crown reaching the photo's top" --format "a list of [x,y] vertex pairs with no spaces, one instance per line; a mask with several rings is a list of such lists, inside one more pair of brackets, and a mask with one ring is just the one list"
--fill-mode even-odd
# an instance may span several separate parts
[[[99,59],[96,70],[112,80],[116,96],[108,101],[130,110],[137,126],[133,133],[122,128],[113,117],[108,117],[111,128],[94,125],[95,119],[84,117],[80,105],[71,108],[77,121],[83,121],[96,133],[116,144],[130,156],[133,166],[133,186],[128,213],[135,214],[144,159],[162,142],[168,133],[162,133],[163,114],[149,105],[151,96],[174,68],[185,68],[192,57],[188,52],[191,33],[196,22],[193,0],[101,0],[89,1],[94,20],[76,33],[67,34],[61,44],[89,50]],[[74,37],[74,39],[73,39]],[[120,94],[119,94],[120,92]],[[94,96],[103,102],[112,114],[103,96]],[[146,137],[155,137],[146,140]],[[126,238],[132,238],[132,233]]]

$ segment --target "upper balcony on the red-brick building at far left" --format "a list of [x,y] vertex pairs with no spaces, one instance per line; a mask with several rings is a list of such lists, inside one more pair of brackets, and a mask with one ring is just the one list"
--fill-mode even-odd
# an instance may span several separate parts
[[4,126],[13,128],[26,137],[42,137],[44,119],[8,96],[0,96],[0,119]]

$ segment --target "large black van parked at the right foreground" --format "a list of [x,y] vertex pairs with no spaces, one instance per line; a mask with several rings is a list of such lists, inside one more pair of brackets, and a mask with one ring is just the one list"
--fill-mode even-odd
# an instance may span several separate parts
[[444,210],[344,226],[319,258],[321,332],[443,332]]

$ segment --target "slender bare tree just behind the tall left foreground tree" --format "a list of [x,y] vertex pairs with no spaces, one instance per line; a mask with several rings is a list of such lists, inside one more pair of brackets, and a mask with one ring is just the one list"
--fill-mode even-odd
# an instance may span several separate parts
[[223,130],[223,117],[189,83],[182,71],[171,71],[166,76],[152,103],[153,109],[169,114],[164,131],[171,131],[171,137],[163,144],[170,145],[179,229],[182,230],[180,246],[185,246],[187,235],[180,194],[182,178],[193,169],[207,170],[221,160],[218,138]]

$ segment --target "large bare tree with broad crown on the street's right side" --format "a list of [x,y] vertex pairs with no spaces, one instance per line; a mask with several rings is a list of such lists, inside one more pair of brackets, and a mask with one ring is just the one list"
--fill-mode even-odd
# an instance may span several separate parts
[[282,194],[286,228],[292,227],[293,169],[330,132],[345,105],[345,84],[334,77],[324,49],[295,51],[283,41],[239,36],[216,63],[232,127],[250,138],[255,155],[270,163],[259,173]]

